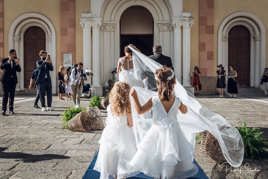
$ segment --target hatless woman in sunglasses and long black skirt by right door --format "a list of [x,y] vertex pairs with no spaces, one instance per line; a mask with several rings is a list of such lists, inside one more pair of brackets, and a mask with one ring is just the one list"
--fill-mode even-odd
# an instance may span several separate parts
[[231,94],[231,98],[236,98],[236,94],[238,94],[236,77],[236,70],[234,69],[233,65],[229,65],[227,89],[228,93]]

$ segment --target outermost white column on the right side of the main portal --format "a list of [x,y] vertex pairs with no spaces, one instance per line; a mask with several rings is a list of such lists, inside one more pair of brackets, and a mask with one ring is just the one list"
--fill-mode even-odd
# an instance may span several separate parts
[[191,87],[190,84],[190,42],[191,42],[191,27],[194,24],[192,18],[183,19],[183,87]]

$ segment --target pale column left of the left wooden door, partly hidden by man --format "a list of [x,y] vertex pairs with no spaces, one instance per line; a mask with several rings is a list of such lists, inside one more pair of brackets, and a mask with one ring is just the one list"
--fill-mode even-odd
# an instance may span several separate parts
[[[14,36],[13,37],[13,42],[14,42],[14,49],[16,50],[16,53],[17,53],[17,56],[19,59],[22,59],[23,57],[20,57],[19,55],[19,47],[20,47],[20,41],[21,41],[21,37],[20,36]],[[23,90],[24,88],[24,63],[23,61],[19,61],[19,64],[20,64],[20,67],[21,67],[21,70],[22,70],[22,74],[21,72],[17,72],[17,76],[18,76],[18,84],[16,86],[16,91],[19,91],[19,90]]]

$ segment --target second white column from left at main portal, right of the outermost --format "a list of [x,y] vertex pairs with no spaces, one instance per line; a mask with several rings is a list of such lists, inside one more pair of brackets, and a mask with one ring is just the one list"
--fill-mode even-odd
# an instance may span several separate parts
[[[100,85],[100,26],[102,21],[92,21],[92,72],[94,74],[92,85],[95,88],[101,87]],[[96,91],[97,92],[97,91]]]

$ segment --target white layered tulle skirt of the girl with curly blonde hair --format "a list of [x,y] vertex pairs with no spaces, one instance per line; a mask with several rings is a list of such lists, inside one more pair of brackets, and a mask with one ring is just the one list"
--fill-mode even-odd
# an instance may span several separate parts
[[101,173],[100,179],[108,179],[109,175],[117,175],[118,179],[127,178],[140,173],[129,165],[137,149],[133,129],[127,124],[108,124],[99,143],[99,155],[94,170]]

